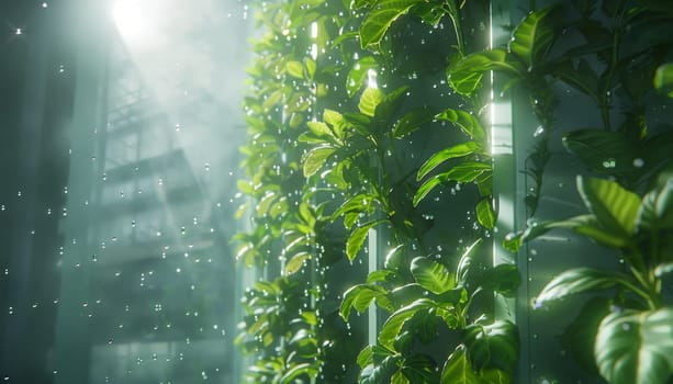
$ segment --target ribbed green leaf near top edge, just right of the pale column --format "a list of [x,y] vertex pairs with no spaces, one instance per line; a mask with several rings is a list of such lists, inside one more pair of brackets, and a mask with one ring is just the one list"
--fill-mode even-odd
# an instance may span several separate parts
[[558,5],[551,5],[528,13],[512,33],[509,52],[529,69],[545,59],[553,44],[556,20],[548,16],[558,9]]

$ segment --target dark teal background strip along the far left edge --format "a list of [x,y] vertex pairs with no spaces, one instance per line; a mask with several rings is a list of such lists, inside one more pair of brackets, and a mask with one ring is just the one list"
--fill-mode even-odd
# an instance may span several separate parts
[[[46,4],[46,7],[44,7]],[[0,380],[51,383],[74,67],[64,2],[0,2]],[[19,30],[21,33],[19,33]]]

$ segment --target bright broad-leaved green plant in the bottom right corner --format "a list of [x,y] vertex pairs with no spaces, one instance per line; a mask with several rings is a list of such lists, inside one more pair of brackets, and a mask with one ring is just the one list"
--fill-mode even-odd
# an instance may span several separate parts
[[622,268],[567,270],[542,289],[535,306],[606,292],[609,300],[598,306],[593,302],[581,315],[598,310],[597,329],[584,335],[588,339],[575,341],[593,351],[609,383],[665,383],[673,375],[673,307],[662,301],[662,280],[673,271],[673,179],[642,199],[603,179],[580,177],[577,189],[588,214],[530,226],[519,239],[570,228],[614,249]]

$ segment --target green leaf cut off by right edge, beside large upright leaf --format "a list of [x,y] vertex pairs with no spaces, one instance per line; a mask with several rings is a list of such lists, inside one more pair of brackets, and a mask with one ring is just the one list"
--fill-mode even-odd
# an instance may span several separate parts
[[640,230],[673,228],[673,179],[642,197],[636,226]]

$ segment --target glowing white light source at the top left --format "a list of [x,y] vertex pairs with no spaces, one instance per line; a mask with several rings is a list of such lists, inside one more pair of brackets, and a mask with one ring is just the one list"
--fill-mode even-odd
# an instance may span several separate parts
[[156,32],[148,1],[117,0],[112,12],[117,30],[127,42],[147,42]]

